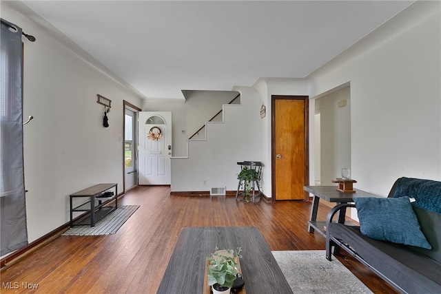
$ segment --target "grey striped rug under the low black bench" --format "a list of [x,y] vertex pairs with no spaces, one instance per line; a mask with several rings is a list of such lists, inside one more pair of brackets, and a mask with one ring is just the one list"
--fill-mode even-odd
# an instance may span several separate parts
[[107,214],[104,218],[95,223],[95,227],[89,224],[75,226],[68,229],[62,235],[110,235],[116,233],[126,220],[139,208],[139,205],[125,205]]

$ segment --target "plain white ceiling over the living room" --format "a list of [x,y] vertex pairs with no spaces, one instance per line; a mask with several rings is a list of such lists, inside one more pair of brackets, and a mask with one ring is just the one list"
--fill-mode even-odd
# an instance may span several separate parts
[[23,1],[145,98],[303,78],[412,2]]

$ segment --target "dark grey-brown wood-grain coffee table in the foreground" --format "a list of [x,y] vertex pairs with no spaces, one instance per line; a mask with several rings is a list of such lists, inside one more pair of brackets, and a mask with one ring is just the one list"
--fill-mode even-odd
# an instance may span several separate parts
[[256,227],[185,227],[179,234],[158,292],[203,293],[205,260],[214,248],[242,247],[240,267],[247,294],[292,293]]

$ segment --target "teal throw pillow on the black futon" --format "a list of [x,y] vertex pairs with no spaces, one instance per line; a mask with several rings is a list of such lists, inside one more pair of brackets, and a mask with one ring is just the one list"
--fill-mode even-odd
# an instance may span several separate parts
[[353,198],[360,231],[369,238],[432,249],[420,229],[409,197]]

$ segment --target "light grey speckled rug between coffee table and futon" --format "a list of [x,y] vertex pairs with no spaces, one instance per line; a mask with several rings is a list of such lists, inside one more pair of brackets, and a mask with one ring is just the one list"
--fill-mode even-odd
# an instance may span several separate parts
[[294,293],[372,293],[339,260],[324,250],[272,251]]

